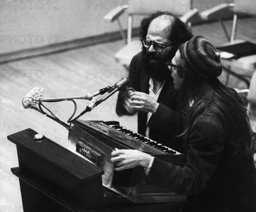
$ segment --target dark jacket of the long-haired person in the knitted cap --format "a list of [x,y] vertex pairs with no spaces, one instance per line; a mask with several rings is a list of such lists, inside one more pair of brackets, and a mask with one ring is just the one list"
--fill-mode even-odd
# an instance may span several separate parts
[[233,155],[227,139],[221,121],[202,114],[193,123],[185,143],[185,166],[154,158],[147,183],[186,195],[184,211],[255,212],[253,155]]

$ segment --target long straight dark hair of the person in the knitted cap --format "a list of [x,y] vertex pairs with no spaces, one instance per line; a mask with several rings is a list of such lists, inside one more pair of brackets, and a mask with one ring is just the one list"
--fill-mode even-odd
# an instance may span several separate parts
[[[254,149],[252,130],[246,107],[236,91],[226,87],[218,78],[207,79],[183,68],[177,69],[177,72],[183,77],[178,108],[187,120],[182,134],[185,139],[195,119],[207,112],[221,120],[227,145],[233,146],[234,154],[251,153]],[[190,106],[192,101],[193,105]]]

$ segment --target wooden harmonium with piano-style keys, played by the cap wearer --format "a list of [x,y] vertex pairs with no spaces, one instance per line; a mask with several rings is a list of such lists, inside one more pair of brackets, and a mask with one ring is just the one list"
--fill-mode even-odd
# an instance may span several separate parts
[[186,155],[161,145],[145,136],[135,133],[110,121],[73,122],[67,149],[102,168],[102,184],[108,189],[125,196],[135,203],[182,202],[185,196],[177,195],[169,189],[145,183],[143,167],[115,171],[111,162],[111,152],[115,149],[137,149],[158,157],[167,163],[184,166]]

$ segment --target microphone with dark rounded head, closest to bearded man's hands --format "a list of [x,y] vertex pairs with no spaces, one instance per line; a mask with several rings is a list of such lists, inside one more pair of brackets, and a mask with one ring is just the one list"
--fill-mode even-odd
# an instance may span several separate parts
[[128,78],[122,78],[119,81],[114,84],[114,86],[111,87],[109,93],[106,93],[102,96],[100,96],[98,99],[96,99],[94,102],[92,102],[90,105],[86,107],[86,109],[82,112],[83,114],[86,113],[87,111],[91,111],[94,107],[111,97],[116,91],[121,90],[125,86],[127,86],[130,83]]

